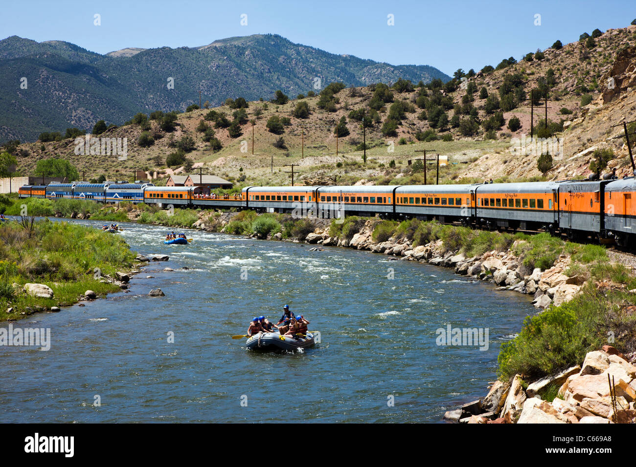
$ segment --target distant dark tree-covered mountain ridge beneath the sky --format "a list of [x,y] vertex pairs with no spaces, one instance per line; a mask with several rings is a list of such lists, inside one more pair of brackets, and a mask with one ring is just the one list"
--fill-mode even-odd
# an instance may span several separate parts
[[[26,88],[20,85],[26,78]],[[172,78],[172,80],[170,80]],[[120,125],[136,112],[184,110],[228,97],[295,96],[332,81],[347,86],[440,78],[428,65],[390,65],[294,44],[275,34],[230,37],[198,48],[126,48],[100,55],[63,41],[0,41],[0,142],[35,140],[43,131]],[[169,89],[169,81],[174,88]]]

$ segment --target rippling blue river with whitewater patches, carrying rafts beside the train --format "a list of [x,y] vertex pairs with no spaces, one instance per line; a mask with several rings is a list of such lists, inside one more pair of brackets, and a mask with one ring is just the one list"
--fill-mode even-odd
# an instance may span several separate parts
[[[0,346],[1,422],[438,422],[484,395],[501,344],[536,313],[528,295],[431,264],[204,231],[164,245],[166,227],[120,226],[169,261],[106,299],[0,323],[50,330],[46,351]],[[284,304],[321,332],[314,348],[230,338]]]

